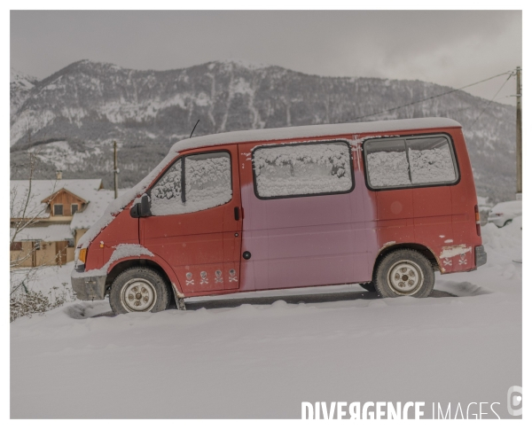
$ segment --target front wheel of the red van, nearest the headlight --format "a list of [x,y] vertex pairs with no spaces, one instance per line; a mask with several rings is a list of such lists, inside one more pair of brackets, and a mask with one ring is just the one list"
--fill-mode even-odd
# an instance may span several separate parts
[[153,269],[134,267],[121,272],[113,281],[109,303],[115,315],[134,312],[157,313],[168,308],[171,292]]

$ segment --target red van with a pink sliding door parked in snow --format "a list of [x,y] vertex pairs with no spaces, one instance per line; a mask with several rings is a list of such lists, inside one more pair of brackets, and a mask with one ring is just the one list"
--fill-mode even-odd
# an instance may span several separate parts
[[460,124],[237,131],[176,143],[82,237],[72,285],[115,313],[183,298],[359,283],[426,297],[487,260]]

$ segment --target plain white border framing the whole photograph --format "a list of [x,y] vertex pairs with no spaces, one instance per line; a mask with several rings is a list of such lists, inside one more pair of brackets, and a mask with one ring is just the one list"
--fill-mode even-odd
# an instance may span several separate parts
[[[124,7],[127,7],[128,9],[135,9],[135,10],[168,10],[168,9],[183,9],[183,10],[200,10],[200,9],[220,9],[223,8],[225,10],[238,10],[238,9],[251,9],[251,10],[264,10],[264,9],[278,9],[278,10],[290,10],[290,9],[301,9],[301,6],[304,6],[309,9],[313,10],[325,10],[325,9],[358,9],[358,10],[385,10],[385,9],[398,9],[399,7],[402,8],[402,10],[418,10],[418,9],[426,9],[426,10],[484,10],[484,9],[496,9],[504,7],[505,10],[525,10],[525,13],[523,13],[523,69],[524,69],[524,82],[523,88],[526,88],[527,85],[527,74],[526,71],[528,70],[529,63],[529,57],[528,57],[528,51],[529,51],[529,44],[528,40],[530,40],[529,34],[530,34],[530,19],[528,18],[528,12],[530,10],[530,5],[527,2],[524,1],[510,1],[506,0],[504,3],[500,2],[474,2],[474,1],[456,1],[456,0],[449,0],[446,2],[431,2],[428,3],[426,1],[403,1],[403,2],[396,2],[396,1],[372,1],[372,2],[347,2],[347,1],[338,1],[338,0],[329,0],[328,2],[294,2],[290,0],[270,0],[269,2],[244,2],[244,1],[225,1],[223,3],[221,2],[214,2],[214,1],[195,1],[195,2],[169,2],[169,1],[160,1],[160,0],[152,0],[151,2],[121,2],[121,1],[101,1],[101,0],[94,0],[91,2],[66,2],[66,1],[48,1],[46,3],[37,2],[37,1],[9,1],[7,2],[8,7],[14,9],[14,10],[32,10],[32,9],[69,9],[69,10],[115,10],[115,9],[123,9]],[[528,11],[527,11],[528,10]],[[2,40],[3,40],[3,50],[4,50],[4,58],[9,56],[10,51],[10,43],[9,43],[9,37],[10,37],[10,11],[9,9],[4,7],[3,13],[2,13]],[[526,48],[525,48],[526,46]],[[4,66],[4,86],[3,88],[3,94],[4,94],[4,121],[3,121],[3,127],[4,127],[4,136],[6,137],[5,140],[5,147],[4,149],[7,152],[8,143],[7,140],[9,140],[9,128],[7,124],[7,111],[9,107],[7,106],[7,98],[9,97],[9,93],[7,90],[7,66]],[[526,90],[525,90],[526,93]],[[526,108],[527,103],[524,103],[525,108],[523,111],[523,165],[527,165],[527,161],[530,160],[530,151],[528,149],[528,145],[530,144],[530,140],[527,138],[530,136],[530,121],[528,121],[528,110]],[[8,183],[9,183],[9,157],[4,156],[2,158],[3,162],[3,168],[0,168],[0,171],[3,175],[3,195],[4,198],[8,195]],[[524,182],[524,188],[532,190],[532,182],[530,180],[530,175],[528,173],[528,168],[524,168],[523,170],[523,182]],[[531,191],[532,192],[532,191]],[[528,218],[528,196],[525,194],[525,197],[523,199],[524,204],[524,216]],[[7,238],[7,223],[8,219],[7,216],[7,209],[4,208],[4,230],[3,234],[4,237]],[[526,222],[525,230],[523,230],[524,239],[523,243],[530,243],[532,238],[530,229],[528,229],[528,222]],[[4,243],[7,242],[7,239],[4,239]],[[7,266],[7,247],[3,246],[1,247],[3,250],[4,257],[2,257],[2,261],[4,263],[4,269],[3,269],[3,276],[4,279],[9,275],[8,272],[8,266]],[[528,256],[530,254],[530,251],[528,250],[528,246],[526,246],[524,249],[523,259],[528,261]],[[525,264],[525,267],[527,265]],[[530,280],[531,276],[528,273],[528,270],[525,270],[523,273],[523,307],[527,308],[529,307],[529,304],[531,302],[530,297],[532,292],[530,292]],[[4,291],[5,293],[5,291]],[[7,301],[7,300],[5,300]],[[7,307],[7,303],[4,304],[5,307]],[[7,311],[4,312],[4,315],[6,315]],[[530,386],[532,383],[530,378],[530,365],[525,363],[532,362],[532,354],[531,354],[531,348],[530,348],[530,325],[531,325],[531,318],[530,311],[523,311],[523,331],[527,332],[527,335],[524,335],[523,338],[523,385],[524,386]],[[9,325],[7,324],[7,317],[4,318],[4,329],[2,331],[2,337],[3,337],[3,344],[9,345]],[[4,380],[9,379],[9,354],[6,350],[6,347],[4,347],[4,354],[2,356],[3,358],[3,365],[2,368],[4,370]],[[487,377],[489,377],[489,374],[487,374]],[[9,419],[9,383],[4,382],[3,383],[4,389],[2,392],[2,417],[3,420]],[[109,393],[112,394],[119,394],[117,392]],[[532,401],[525,400],[523,407],[524,412],[523,420],[514,422],[517,426],[523,426],[526,423],[529,422],[532,419],[532,405],[530,405]],[[265,405],[267,406],[267,405]],[[176,425],[186,425],[187,427],[204,427],[206,425],[208,426],[215,426],[215,427],[224,427],[231,425],[231,427],[246,427],[246,429],[253,425],[254,427],[268,427],[270,428],[271,425],[275,425],[276,427],[280,426],[290,426],[290,427],[302,427],[302,425],[305,425],[305,427],[330,427],[332,425],[335,426],[344,426],[344,427],[353,427],[353,425],[356,426],[366,426],[366,425],[372,425],[373,427],[375,424],[378,424],[379,426],[382,425],[394,425],[395,427],[427,427],[428,426],[434,426],[434,425],[442,425],[441,423],[437,421],[411,421],[411,420],[403,420],[403,421],[384,421],[380,420],[377,421],[357,421],[357,422],[351,422],[348,420],[343,421],[294,421],[294,420],[283,420],[283,421],[271,421],[271,420],[259,420],[254,421],[253,423],[250,423],[246,420],[206,420],[206,421],[190,421],[190,420],[181,420],[181,421],[173,421],[173,420],[163,420],[163,421],[146,421],[146,420],[136,420],[136,421],[113,421],[113,420],[98,420],[98,421],[90,421],[90,420],[77,420],[75,423],[68,421],[68,420],[41,420],[38,422],[26,422],[26,421],[10,421],[8,422],[10,425],[13,426],[19,426],[19,427],[26,427],[27,425],[43,425],[44,427],[48,425],[53,425],[54,427],[66,427],[66,426],[72,426],[75,425],[76,427],[93,427],[94,425],[98,425],[98,427],[102,426],[114,426],[117,425],[128,425],[129,427],[141,427],[145,425],[163,425],[167,427],[175,427]],[[486,426],[495,426],[497,427],[505,427],[507,424],[506,422],[500,422],[497,420],[484,420],[482,422],[478,421],[460,421],[460,420],[454,420],[452,421],[453,426],[457,427],[463,427],[465,425],[467,426],[475,426],[475,425],[482,425],[482,427]]]

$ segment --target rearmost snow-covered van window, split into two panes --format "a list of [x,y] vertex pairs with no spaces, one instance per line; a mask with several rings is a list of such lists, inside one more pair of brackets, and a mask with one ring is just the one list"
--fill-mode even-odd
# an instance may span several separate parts
[[457,183],[458,167],[448,136],[376,138],[364,144],[367,183],[390,189]]

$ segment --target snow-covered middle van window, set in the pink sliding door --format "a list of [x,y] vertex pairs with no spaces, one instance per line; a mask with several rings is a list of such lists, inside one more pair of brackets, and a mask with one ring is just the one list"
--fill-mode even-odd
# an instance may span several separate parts
[[345,142],[279,144],[253,151],[258,198],[302,197],[353,191],[353,163]]

